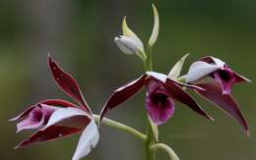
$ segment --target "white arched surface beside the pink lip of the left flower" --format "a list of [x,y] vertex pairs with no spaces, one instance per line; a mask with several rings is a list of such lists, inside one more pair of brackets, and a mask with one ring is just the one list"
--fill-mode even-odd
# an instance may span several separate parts
[[49,118],[48,123],[46,124],[46,126],[41,129],[41,130],[45,130],[46,128],[55,125],[65,119],[69,119],[75,116],[88,116],[91,117],[88,113],[75,108],[75,107],[67,107],[67,108],[59,108],[56,111],[54,111],[52,113],[52,115]]

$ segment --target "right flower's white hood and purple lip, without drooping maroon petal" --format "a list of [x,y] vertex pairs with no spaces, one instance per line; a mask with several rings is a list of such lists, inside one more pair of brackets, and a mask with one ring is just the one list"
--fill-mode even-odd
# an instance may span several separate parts
[[186,76],[187,83],[218,82],[223,94],[230,94],[231,86],[237,82],[250,81],[232,71],[222,60],[215,57],[203,57],[193,63]]

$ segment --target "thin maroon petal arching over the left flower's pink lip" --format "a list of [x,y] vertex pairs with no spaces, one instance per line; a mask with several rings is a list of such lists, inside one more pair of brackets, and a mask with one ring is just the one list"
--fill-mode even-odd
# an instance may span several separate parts
[[35,105],[32,105],[30,107],[28,107],[28,109],[26,109],[24,112],[22,112],[19,116],[9,120],[9,121],[18,121],[20,119],[23,119],[24,117],[28,116],[28,114],[38,105],[40,104],[47,104],[50,106],[57,106],[57,107],[77,107],[75,104],[70,103],[66,100],[61,100],[61,99],[46,99],[46,100],[42,100],[38,103],[36,103]]

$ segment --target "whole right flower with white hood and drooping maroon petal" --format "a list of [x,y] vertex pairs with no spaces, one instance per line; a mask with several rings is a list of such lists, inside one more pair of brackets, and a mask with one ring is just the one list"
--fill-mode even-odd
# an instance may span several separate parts
[[234,83],[250,80],[233,72],[222,60],[208,56],[190,66],[185,81],[204,88],[204,91],[194,90],[228,116],[235,118],[245,133],[249,134],[247,122],[239,105],[230,95],[230,90]]

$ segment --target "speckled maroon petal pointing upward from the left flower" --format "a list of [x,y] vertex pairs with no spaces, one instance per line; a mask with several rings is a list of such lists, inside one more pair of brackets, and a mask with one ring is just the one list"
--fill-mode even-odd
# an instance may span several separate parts
[[92,111],[81,93],[77,81],[71,75],[63,71],[50,55],[48,56],[48,64],[51,74],[59,87],[92,114]]

